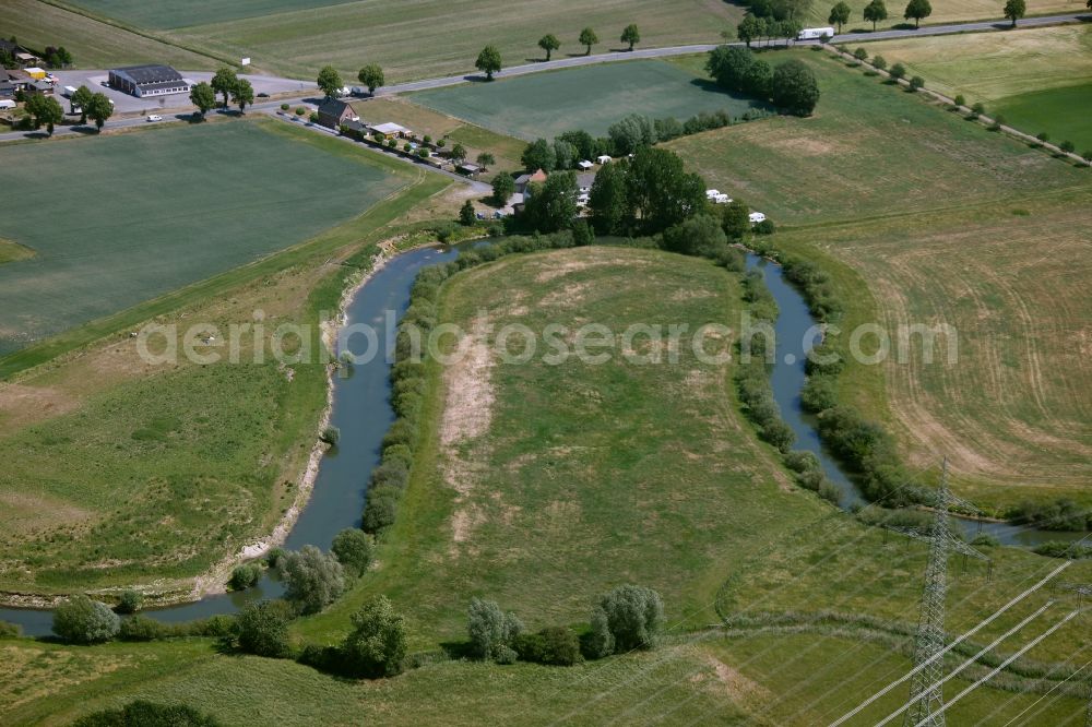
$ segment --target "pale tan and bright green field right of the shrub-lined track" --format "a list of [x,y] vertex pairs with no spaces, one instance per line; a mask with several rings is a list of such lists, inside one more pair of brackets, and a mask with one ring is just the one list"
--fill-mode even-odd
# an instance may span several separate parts
[[886,40],[870,53],[900,61],[928,86],[968,104],[982,102],[1009,126],[1092,150],[1092,27]]

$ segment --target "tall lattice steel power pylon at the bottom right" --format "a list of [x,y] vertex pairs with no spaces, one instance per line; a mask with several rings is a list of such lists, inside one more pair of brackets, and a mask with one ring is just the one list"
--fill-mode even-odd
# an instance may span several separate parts
[[[937,489],[936,519],[933,529],[926,534],[919,531],[902,532],[929,543],[929,563],[925,569],[925,587],[922,593],[922,612],[914,637],[914,680],[910,687],[913,703],[903,717],[904,727],[926,725],[945,727],[943,694],[943,649],[945,649],[945,598],[948,595],[948,556],[958,551],[964,556],[989,560],[963,540],[954,537],[948,517],[953,505],[970,506],[952,496],[948,488],[948,457],[940,470],[940,487]],[[902,529],[902,528],[900,528]]]

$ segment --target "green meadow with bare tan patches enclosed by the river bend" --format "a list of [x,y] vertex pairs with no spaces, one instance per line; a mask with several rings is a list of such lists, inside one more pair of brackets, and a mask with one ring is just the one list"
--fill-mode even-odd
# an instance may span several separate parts
[[[753,534],[822,511],[743,421],[731,366],[699,362],[688,337],[674,365],[666,338],[636,343],[658,350],[658,365],[617,355],[550,365],[541,337],[531,361],[506,362],[496,336],[509,324],[541,336],[556,323],[571,347],[585,323],[616,336],[633,323],[662,324],[666,336],[673,323],[691,332],[733,325],[739,309],[734,275],[655,250],[513,255],[449,281],[442,320],[472,332],[468,355],[432,365],[441,388],[426,405],[431,433],[384,535],[381,568],[304,631],[342,628],[379,593],[419,624],[424,644],[458,637],[472,596],[495,598],[536,628],[567,623],[627,582],[658,588],[673,621],[707,623],[725,563],[751,550]],[[517,339],[510,346],[521,349]]]

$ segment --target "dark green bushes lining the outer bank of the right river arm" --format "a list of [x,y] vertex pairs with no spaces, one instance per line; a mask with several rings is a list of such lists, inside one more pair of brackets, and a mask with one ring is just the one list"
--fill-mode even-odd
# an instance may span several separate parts
[[[811,315],[822,325],[836,325],[844,317],[844,307],[830,276],[816,263],[785,253],[769,238],[751,238],[747,246],[756,254],[769,258],[782,266],[785,279],[804,297]],[[856,408],[838,398],[839,377],[850,356],[847,343],[824,337],[805,364],[807,381],[800,392],[800,405],[816,415],[819,436],[834,456],[848,469],[870,502],[882,502],[889,511],[885,523],[903,524],[917,520],[914,511],[899,509],[936,504],[933,490],[913,482],[902,463],[894,438],[883,427]],[[790,465],[792,466],[792,465]],[[960,513],[974,517],[980,513]],[[1005,513],[1009,522],[1040,529],[1079,531],[1092,525],[1087,511],[1066,499],[1049,502],[1023,502]],[[875,514],[871,515],[875,520]],[[1041,547],[1035,552],[1046,556],[1080,558],[1082,552],[1066,547]]]

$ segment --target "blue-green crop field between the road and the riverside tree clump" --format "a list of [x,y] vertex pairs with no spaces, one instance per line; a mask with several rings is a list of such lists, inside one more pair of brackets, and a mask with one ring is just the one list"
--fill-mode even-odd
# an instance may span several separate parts
[[[699,111],[741,116],[759,103],[725,92],[704,75],[658,60],[584,68],[468,83],[408,94],[416,104],[521,139],[583,129],[605,135],[627,114],[682,121]],[[543,109],[549,109],[544,115]]]

